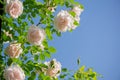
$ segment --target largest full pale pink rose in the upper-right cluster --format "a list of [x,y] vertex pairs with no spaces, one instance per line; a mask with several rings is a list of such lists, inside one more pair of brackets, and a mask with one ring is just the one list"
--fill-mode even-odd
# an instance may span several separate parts
[[72,26],[71,15],[64,10],[61,10],[54,19],[55,28],[60,32],[65,32],[68,30],[68,27]]

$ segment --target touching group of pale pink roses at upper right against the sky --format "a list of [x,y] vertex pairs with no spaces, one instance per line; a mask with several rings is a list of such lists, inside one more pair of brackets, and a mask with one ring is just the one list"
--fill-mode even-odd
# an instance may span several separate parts
[[[69,12],[75,13],[75,16],[73,17]],[[79,16],[82,12],[83,9],[81,9],[80,6],[75,6],[70,11],[61,10],[54,19],[55,28],[60,32],[75,29],[77,27],[75,22],[79,24]]]

